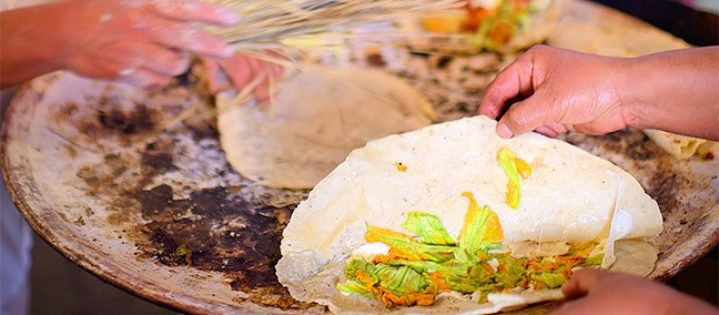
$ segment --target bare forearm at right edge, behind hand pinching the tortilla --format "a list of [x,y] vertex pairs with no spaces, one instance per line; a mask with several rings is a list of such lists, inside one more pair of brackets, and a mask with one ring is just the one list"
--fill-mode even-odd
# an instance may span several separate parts
[[634,59],[620,84],[629,126],[719,140],[719,47]]

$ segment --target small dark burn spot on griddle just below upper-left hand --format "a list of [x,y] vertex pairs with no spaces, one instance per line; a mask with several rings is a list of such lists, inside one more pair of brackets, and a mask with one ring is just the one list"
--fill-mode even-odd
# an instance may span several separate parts
[[145,105],[135,106],[132,112],[125,113],[117,108],[109,111],[98,111],[98,121],[101,125],[124,134],[138,134],[154,129],[153,112]]

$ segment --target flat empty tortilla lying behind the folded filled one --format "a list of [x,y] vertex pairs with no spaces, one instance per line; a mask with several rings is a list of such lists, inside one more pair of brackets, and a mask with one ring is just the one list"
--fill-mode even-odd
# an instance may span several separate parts
[[271,187],[311,189],[367,141],[434,119],[419,91],[382,70],[318,68],[280,84],[271,104],[216,101],[227,161]]

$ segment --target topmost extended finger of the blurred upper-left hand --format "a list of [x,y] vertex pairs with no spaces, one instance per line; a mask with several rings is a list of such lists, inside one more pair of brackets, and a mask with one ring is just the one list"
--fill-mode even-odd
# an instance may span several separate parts
[[158,13],[173,20],[193,21],[222,27],[240,22],[240,16],[231,9],[196,0],[154,0]]

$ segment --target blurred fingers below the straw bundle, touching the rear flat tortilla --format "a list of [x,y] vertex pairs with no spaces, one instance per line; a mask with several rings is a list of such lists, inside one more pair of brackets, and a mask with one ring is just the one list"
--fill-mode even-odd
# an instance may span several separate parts
[[282,77],[284,70],[271,63],[242,53],[227,59],[204,58],[205,78],[210,93],[216,94],[227,89],[252,93],[261,102],[270,96],[273,80]]

